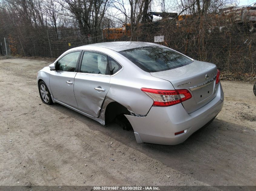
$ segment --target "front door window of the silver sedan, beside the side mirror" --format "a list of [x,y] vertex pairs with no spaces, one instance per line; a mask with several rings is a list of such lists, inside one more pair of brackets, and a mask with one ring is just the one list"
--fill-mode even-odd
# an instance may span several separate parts
[[57,71],[75,72],[80,52],[72,52],[63,56],[56,64]]

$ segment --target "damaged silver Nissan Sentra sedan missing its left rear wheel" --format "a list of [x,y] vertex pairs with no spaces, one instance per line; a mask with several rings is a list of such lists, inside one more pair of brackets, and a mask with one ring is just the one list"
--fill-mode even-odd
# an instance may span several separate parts
[[216,65],[146,42],[72,48],[38,72],[46,104],[60,103],[102,125],[123,115],[138,143],[176,145],[223,107]]

